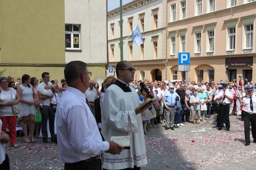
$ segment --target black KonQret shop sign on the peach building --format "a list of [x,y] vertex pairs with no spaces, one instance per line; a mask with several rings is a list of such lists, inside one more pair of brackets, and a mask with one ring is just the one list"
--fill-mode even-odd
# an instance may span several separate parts
[[253,57],[226,58],[226,66],[252,66]]

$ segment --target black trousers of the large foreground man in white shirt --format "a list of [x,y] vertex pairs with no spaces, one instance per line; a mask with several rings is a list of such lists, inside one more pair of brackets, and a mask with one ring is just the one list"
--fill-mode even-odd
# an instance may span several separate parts
[[90,162],[79,161],[75,163],[65,163],[65,170],[101,170],[101,159]]

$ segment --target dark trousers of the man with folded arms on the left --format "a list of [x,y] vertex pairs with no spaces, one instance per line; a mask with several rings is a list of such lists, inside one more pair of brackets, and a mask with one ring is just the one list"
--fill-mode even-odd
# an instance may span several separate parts
[[46,106],[43,105],[43,109],[40,109],[41,114],[42,114],[42,135],[43,139],[48,138],[48,133],[47,133],[47,120],[49,120],[49,131],[51,133],[51,138],[55,135],[54,133],[54,120],[55,120],[55,113],[53,112],[53,109],[51,106]]

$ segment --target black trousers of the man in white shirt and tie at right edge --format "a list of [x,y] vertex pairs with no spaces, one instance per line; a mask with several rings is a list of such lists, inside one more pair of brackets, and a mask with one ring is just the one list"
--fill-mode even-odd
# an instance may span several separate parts
[[244,112],[244,138],[246,143],[250,143],[250,123],[252,125],[253,139],[256,140],[256,114]]

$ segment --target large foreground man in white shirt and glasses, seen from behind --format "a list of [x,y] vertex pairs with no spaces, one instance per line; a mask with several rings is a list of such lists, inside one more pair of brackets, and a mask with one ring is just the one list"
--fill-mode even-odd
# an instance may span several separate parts
[[91,76],[86,63],[68,63],[64,75],[68,87],[59,100],[56,112],[61,160],[65,163],[65,170],[101,170],[103,152],[120,154],[125,148],[113,141],[103,141],[84,95]]

